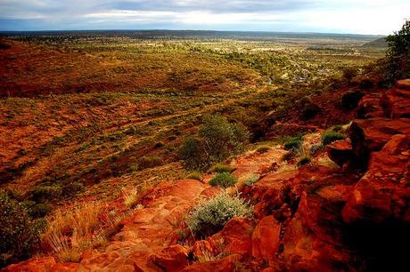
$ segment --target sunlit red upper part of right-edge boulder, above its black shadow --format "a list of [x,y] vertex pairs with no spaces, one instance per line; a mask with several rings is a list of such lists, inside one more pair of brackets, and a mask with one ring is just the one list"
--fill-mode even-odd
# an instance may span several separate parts
[[408,137],[396,135],[371,155],[369,170],[343,209],[347,223],[381,224],[391,219],[410,223],[409,151]]

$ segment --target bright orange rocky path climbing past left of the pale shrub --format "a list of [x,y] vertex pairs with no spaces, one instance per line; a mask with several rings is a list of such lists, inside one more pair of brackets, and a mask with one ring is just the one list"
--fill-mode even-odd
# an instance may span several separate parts
[[[285,154],[282,148],[272,148],[264,154],[248,153],[235,160],[234,175],[268,172],[279,164]],[[145,198],[144,207],[127,218],[124,228],[114,236],[104,252],[88,252],[78,271],[162,271],[152,257],[168,247],[172,233],[193,205],[217,190],[198,180],[178,180],[162,183]]]

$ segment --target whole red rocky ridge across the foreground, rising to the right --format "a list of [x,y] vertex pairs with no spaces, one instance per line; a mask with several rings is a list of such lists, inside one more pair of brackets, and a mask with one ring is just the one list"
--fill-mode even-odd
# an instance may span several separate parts
[[[179,180],[144,194],[143,209],[79,264],[53,257],[4,271],[404,271],[410,225],[410,80],[360,101],[348,139],[326,148],[340,165],[277,171],[281,148],[244,155],[234,174],[258,174],[242,196],[253,220],[234,218],[205,240],[180,243],[177,222],[217,193]],[[258,162],[258,163],[256,163]]]

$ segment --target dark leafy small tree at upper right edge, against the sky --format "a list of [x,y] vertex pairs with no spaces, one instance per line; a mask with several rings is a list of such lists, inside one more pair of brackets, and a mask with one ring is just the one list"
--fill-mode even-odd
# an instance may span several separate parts
[[387,58],[389,68],[386,79],[393,83],[398,79],[410,76],[410,20],[403,27],[386,38],[389,44]]

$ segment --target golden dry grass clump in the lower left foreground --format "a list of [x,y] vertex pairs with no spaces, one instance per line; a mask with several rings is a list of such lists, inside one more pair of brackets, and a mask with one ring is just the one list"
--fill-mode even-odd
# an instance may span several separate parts
[[43,243],[61,261],[78,262],[82,252],[107,243],[122,216],[100,202],[79,204],[75,209],[58,210],[49,218]]

